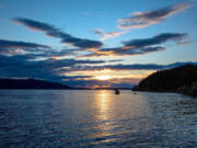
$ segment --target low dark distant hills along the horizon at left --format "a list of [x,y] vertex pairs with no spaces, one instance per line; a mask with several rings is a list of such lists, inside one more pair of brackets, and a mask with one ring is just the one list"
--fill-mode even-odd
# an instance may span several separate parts
[[0,89],[72,89],[68,86],[34,79],[0,79]]

